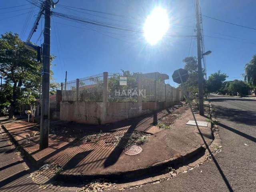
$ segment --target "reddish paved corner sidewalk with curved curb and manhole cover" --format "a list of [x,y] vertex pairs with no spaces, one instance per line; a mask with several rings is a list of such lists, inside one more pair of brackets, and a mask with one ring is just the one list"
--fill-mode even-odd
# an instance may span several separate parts
[[[43,164],[61,166],[63,171],[58,175],[59,178],[76,180],[111,177],[122,180],[132,178],[134,175],[154,173],[156,170],[159,172],[167,165],[182,163],[204,152],[203,141],[196,126],[186,125],[188,120],[193,120],[188,106],[176,108],[171,107],[158,113],[158,119],[162,118],[163,122],[172,122],[172,124],[170,128],[152,134],[148,142],[141,146],[143,151],[137,155],[124,154],[124,146],[134,130],[145,131],[151,126],[152,115],[105,126],[58,122],[57,128],[53,128],[49,135],[49,148],[41,151],[38,144],[39,135],[36,135],[30,144],[26,144],[25,135],[31,131],[38,132],[35,124],[16,120],[4,124],[4,128],[38,166]],[[174,117],[178,119],[174,120]],[[199,121],[206,121],[206,117],[198,114],[196,118]],[[102,130],[102,136],[97,142],[81,142],[77,134],[71,134],[72,131],[83,135],[99,130]],[[200,130],[206,142],[210,144],[212,142],[210,124],[208,123],[208,127],[200,127]],[[120,138],[116,146],[109,145],[113,138]]]

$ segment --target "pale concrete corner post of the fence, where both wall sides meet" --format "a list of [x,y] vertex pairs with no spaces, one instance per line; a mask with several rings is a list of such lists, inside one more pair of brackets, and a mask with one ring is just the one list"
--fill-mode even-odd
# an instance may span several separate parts
[[101,122],[105,124],[108,104],[108,72],[103,72],[102,116]]

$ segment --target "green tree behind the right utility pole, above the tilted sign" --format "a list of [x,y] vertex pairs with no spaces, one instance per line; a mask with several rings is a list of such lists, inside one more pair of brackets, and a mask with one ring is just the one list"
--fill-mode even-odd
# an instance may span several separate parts
[[[184,69],[188,71],[188,80],[184,83],[186,89],[192,94],[198,93],[198,63],[196,57],[186,57],[183,62],[185,63]],[[205,76],[205,71],[202,71]],[[206,81],[203,78],[203,87],[205,88]]]

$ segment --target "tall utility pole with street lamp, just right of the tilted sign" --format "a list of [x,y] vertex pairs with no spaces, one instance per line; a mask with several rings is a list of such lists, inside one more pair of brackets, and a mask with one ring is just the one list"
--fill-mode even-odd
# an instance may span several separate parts
[[204,94],[202,84],[202,52],[201,52],[201,28],[199,18],[199,0],[196,0],[196,36],[197,36],[197,62],[198,62],[198,100],[199,114],[204,115]]

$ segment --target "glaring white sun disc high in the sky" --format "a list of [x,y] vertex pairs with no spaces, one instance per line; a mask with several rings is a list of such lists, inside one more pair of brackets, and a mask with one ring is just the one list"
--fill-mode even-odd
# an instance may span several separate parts
[[154,8],[144,24],[144,36],[151,44],[156,44],[169,28],[168,14],[163,8]]

